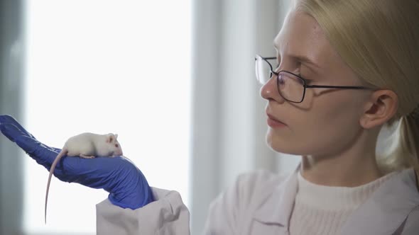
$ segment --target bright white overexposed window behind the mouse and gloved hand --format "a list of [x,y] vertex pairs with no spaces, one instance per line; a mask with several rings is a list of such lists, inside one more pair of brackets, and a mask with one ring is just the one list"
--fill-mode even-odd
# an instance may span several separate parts
[[[62,147],[81,132],[119,134],[148,183],[188,203],[190,1],[26,1],[26,127]],[[28,234],[94,234],[104,190],[51,180],[25,157]],[[77,226],[75,226],[77,224]]]

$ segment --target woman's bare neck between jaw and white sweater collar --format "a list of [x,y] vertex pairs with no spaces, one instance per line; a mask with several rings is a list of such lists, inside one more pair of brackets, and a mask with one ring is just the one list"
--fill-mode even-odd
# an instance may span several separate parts
[[376,163],[376,137],[361,134],[357,143],[339,154],[302,156],[301,175],[318,185],[340,187],[357,187],[380,178],[383,173]]

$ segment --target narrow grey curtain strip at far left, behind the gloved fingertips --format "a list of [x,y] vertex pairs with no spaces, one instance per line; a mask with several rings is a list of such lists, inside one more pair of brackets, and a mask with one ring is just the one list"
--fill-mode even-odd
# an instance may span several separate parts
[[[0,0],[0,114],[22,117],[23,1]],[[0,234],[19,234],[23,218],[21,151],[0,138]]]

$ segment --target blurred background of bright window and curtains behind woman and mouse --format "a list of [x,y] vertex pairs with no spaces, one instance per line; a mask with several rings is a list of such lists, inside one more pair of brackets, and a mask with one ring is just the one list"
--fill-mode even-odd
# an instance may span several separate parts
[[[265,143],[254,55],[275,55],[287,0],[0,0],[0,113],[40,142],[119,134],[151,186],[177,190],[199,234],[240,173],[289,172]],[[95,234],[104,190],[53,178],[0,136],[0,234]]]

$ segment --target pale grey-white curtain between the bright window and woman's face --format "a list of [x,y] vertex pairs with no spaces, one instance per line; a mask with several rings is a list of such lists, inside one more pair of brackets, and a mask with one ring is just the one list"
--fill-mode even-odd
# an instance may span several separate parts
[[266,101],[254,72],[256,53],[275,56],[273,39],[288,4],[195,0],[193,5],[190,212],[192,234],[200,234],[209,203],[236,176],[257,168],[289,171],[300,158],[278,158],[268,149]]

